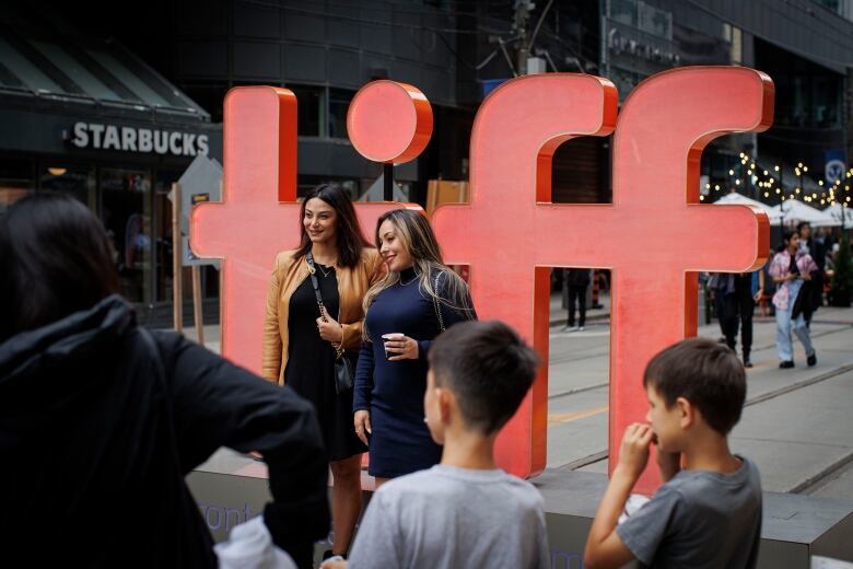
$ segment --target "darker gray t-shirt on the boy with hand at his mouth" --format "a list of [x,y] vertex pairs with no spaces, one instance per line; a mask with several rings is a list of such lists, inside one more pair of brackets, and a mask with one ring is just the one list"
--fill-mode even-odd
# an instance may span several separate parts
[[648,567],[753,568],[761,479],[749,458],[731,474],[681,471],[616,533]]

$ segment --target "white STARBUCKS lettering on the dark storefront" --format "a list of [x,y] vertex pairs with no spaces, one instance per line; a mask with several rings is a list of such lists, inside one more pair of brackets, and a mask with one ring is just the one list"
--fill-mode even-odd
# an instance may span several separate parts
[[120,150],[124,152],[154,152],[175,156],[208,154],[208,136],[175,130],[119,127],[97,123],[74,123],[71,143],[77,148]]

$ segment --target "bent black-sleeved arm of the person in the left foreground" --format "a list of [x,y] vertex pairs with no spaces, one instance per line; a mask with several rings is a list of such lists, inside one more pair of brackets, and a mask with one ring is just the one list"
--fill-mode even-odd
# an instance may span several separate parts
[[311,404],[176,334],[156,334],[184,474],[220,446],[259,451],[272,502],[264,521],[300,566],[329,529],[327,461]]

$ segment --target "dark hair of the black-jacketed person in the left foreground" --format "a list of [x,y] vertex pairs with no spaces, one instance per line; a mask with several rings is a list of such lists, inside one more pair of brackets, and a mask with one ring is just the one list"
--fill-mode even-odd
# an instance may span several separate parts
[[87,310],[119,291],[104,225],[60,194],[36,194],[0,218],[0,341]]

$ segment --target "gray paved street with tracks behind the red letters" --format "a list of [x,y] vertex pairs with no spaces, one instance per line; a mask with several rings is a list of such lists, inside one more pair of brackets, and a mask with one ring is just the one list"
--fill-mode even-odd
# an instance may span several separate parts
[[[562,332],[565,311],[551,301],[548,467],[607,469],[609,299],[587,313],[586,329]],[[756,311],[758,312],[758,311]],[[853,497],[853,309],[823,306],[811,325],[818,364],[805,365],[795,341],[793,370],[780,370],[775,323],[755,318],[747,407],[733,446],[758,464],[766,490]],[[195,330],[185,330],[195,337]],[[716,322],[700,336],[720,337]],[[206,326],[207,345],[219,350],[219,326]],[[738,347],[739,349],[739,347]]]

